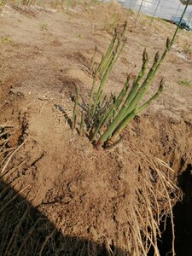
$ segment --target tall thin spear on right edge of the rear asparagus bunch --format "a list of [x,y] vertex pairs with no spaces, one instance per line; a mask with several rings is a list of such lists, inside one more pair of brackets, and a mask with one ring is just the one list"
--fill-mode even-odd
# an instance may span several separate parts
[[113,65],[115,64],[115,62],[117,61],[117,59],[119,58],[119,55],[121,53],[121,51],[124,49],[124,46],[125,46],[125,42],[126,42],[126,38],[125,38],[125,41],[124,43],[122,44],[121,46],[121,49],[119,49],[119,53],[118,53],[118,48],[119,48],[119,44],[116,46],[116,52],[113,52],[113,58],[110,62],[110,64],[108,65],[108,69],[106,70],[106,72],[104,73],[103,77],[102,77],[102,81],[101,81],[101,84],[99,86],[99,89],[97,90],[97,94],[96,94],[96,100],[94,102],[94,107],[93,107],[93,115],[95,114],[96,112],[96,104],[98,103],[101,95],[102,95],[102,90],[106,84],[106,81],[108,79],[108,75],[109,73],[111,72],[112,68],[113,68]]

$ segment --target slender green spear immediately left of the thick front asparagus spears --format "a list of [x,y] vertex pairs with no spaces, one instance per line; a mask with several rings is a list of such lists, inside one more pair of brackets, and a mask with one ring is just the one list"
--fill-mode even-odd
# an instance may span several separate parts
[[120,91],[119,96],[117,97],[116,101],[114,102],[112,108],[110,108],[108,110],[108,112],[103,116],[99,125],[97,125],[96,130],[94,131],[94,134],[92,136],[91,142],[93,142],[96,139],[96,135],[99,132],[99,130],[102,128],[102,126],[105,125],[109,119],[111,119],[111,117],[113,116],[113,112],[119,108],[119,105],[125,98],[127,90],[129,89],[129,82],[130,82],[130,76],[127,77],[124,88]]

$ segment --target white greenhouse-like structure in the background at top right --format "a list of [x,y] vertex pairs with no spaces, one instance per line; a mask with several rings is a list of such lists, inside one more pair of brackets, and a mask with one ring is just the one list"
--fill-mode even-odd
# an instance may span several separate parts
[[[165,20],[172,20],[180,17],[186,3],[184,0],[125,0],[125,8],[141,11],[143,14],[159,17]],[[190,1],[192,4],[192,0]],[[184,15],[184,19],[189,22],[192,20],[192,5]]]

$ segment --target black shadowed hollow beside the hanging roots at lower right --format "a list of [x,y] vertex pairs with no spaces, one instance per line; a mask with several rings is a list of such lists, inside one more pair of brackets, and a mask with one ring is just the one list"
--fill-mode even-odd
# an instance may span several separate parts
[[[192,165],[178,176],[178,185],[183,190],[183,201],[173,207],[175,224],[175,251],[177,256],[192,255]],[[166,230],[160,243],[160,255],[172,255],[172,225],[166,220]]]

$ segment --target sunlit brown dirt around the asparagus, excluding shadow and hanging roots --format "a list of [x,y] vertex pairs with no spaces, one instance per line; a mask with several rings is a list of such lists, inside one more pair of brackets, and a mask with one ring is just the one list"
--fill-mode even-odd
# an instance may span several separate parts
[[[162,20],[148,26],[150,20],[143,15],[137,24],[135,19],[136,14],[117,3],[73,4],[69,14],[49,6],[0,8],[0,123],[14,126],[9,148],[24,143],[11,160],[15,166],[22,163],[16,170],[20,183],[15,189],[25,188],[22,197],[65,236],[97,242],[91,245],[92,255],[104,255],[99,244],[109,244],[114,254],[126,252],[125,234],[136,201],[139,170],[149,172],[143,154],[165,161],[178,177],[191,171],[192,82],[181,84],[192,81],[192,57],[183,50],[185,44],[191,45],[191,32],[179,31],[148,92],[154,92],[164,77],[162,95],[131,121],[117,147],[96,151],[88,137],[79,137],[68,125],[74,84],[86,99],[91,85],[87,67],[95,45],[101,56],[116,23],[127,20],[128,40],[108,79],[107,94],[119,91],[128,73],[137,74],[145,47],[152,63],[155,52],[163,51],[167,36],[172,37],[176,28]],[[187,187],[191,188],[190,182]],[[189,230],[191,217],[186,218]],[[190,236],[187,233],[183,239],[190,241]],[[181,237],[176,239],[177,255],[181,255]],[[77,252],[75,247],[42,255],[80,255]],[[81,253],[88,255],[83,249]]]

